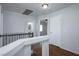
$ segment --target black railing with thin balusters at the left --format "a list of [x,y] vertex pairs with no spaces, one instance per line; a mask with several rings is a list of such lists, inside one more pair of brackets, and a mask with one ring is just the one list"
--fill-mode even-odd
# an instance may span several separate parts
[[33,33],[13,33],[13,34],[4,34],[0,35],[0,46],[5,46],[9,43],[12,43],[18,39],[33,37]]

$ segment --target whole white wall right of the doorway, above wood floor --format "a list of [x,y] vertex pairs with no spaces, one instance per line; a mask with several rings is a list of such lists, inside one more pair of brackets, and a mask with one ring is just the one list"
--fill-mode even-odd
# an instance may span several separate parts
[[41,17],[48,17],[50,44],[79,54],[79,4]]

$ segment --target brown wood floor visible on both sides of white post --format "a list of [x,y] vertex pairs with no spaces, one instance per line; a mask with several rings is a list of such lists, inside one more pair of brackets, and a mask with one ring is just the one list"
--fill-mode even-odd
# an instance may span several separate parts
[[[42,48],[33,48],[32,56],[41,56],[42,55]],[[79,56],[78,54],[72,53],[70,51],[61,49],[55,45],[49,45],[49,56]]]

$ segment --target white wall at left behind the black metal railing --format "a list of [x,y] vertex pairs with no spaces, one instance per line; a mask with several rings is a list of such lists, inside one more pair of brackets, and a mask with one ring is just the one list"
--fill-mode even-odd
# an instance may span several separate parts
[[35,27],[35,18],[32,16],[22,15],[15,12],[4,11],[3,17],[3,28],[4,33],[24,33],[28,32],[27,23],[32,22],[34,31]]

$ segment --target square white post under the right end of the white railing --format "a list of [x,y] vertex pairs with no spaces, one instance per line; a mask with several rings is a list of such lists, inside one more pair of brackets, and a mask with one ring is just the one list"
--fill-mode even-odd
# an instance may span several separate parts
[[42,56],[49,56],[49,40],[42,42]]

